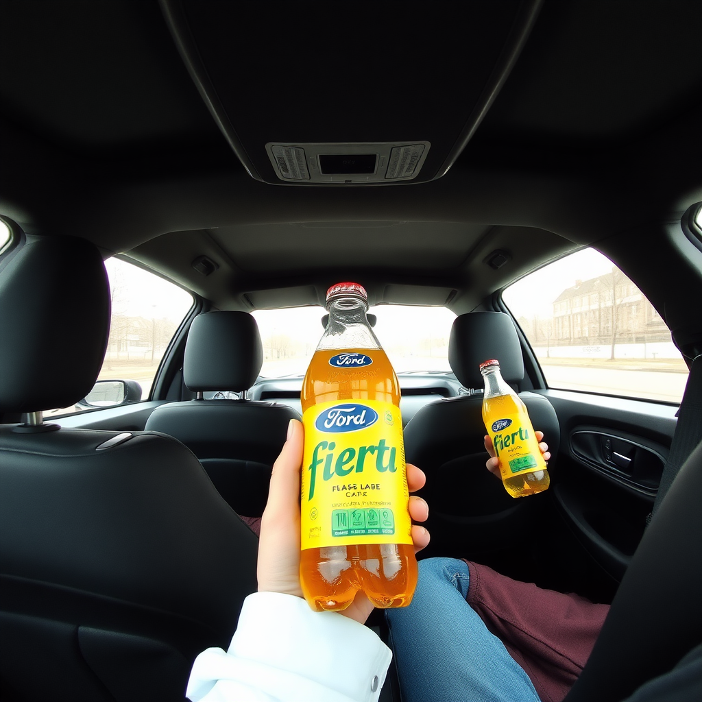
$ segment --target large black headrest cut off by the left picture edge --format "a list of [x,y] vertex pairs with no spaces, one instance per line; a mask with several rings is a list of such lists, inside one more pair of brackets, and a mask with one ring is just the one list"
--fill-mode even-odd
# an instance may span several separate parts
[[110,285],[93,244],[27,236],[0,258],[0,411],[75,404],[98,377]]

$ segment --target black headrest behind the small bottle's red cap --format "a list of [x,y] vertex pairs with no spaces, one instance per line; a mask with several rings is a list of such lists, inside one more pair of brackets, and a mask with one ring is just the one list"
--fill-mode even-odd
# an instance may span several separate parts
[[524,359],[517,330],[509,314],[470,312],[453,320],[449,364],[465,388],[482,388],[480,364],[495,358],[508,383],[524,380]]

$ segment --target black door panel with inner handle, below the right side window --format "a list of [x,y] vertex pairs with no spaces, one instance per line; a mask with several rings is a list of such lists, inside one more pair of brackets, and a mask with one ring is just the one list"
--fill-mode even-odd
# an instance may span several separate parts
[[[538,392],[552,403],[561,429],[557,461],[549,466],[557,517],[602,571],[621,581],[653,507],[677,407]],[[575,553],[562,550],[559,557],[568,561]]]

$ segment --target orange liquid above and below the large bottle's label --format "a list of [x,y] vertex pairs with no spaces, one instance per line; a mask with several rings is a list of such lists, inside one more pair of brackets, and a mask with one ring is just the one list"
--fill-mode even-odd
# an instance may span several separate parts
[[[378,400],[399,406],[399,383],[382,349],[352,348],[371,354],[364,368],[337,369],[329,359],[340,350],[319,350],[307,369],[301,395],[303,412],[320,402]],[[345,609],[363,590],[376,607],[405,607],[417,583],[411,544],[367,544],[308,548],[300,555],[300,582],[305,599],[317,611]]]

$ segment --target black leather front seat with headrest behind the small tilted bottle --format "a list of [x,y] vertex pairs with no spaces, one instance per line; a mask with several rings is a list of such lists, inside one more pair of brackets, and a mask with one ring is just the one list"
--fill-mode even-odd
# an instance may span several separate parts
[[[449,363],[465,388],[481,390],[479,364],[500,361],[503,378],[518,389],[524,379],[522,349],[515,326],[502,312],[472,312],[456,317],[449,339]],[[548,399],[519,392],[534,428],[544,432],[552,456],[559,444],[559,425]],[[432,402],[407,424],[405,453],[427,474],[420,494],[430,505],[430,555],[478,554],[514,543],[514,529],[538,511],[541,496],[510,497],[485,469],[482,392]],[[549,469],[552,470],[553,461]]]

